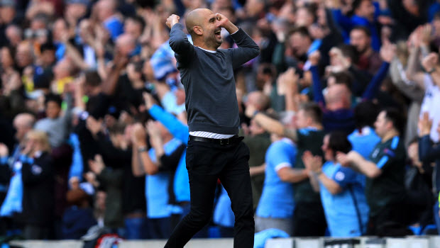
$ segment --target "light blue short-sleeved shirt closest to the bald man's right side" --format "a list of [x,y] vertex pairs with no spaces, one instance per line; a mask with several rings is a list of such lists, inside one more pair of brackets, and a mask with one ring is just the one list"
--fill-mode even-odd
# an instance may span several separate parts
[[281,181],[277,171],[293,167],[297,148],[291,140],[273,142],[265,156],[266,169],[256,215],[263,218],[291,218],[295,209],[293,185]]

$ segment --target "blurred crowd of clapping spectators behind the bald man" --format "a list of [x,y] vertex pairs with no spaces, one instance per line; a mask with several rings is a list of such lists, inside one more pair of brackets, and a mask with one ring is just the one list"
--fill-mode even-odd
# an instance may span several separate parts
[[[234,72],[257,232],[440,232],[440,1],[0,0],[1,236],[169,237],[191,199],[165,20],[197,8],[260,47]],[[213,213],[196,237],[231,237],[221,181]]]

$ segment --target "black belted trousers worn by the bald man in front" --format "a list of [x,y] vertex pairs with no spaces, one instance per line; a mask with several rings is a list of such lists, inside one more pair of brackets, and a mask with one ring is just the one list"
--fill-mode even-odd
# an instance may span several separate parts
[[249,149],[242,139],[229,145],[189,140],[187,170],[191,210],[172,232],[165,247],[184,247],[211,219],[217,180],[228,192],[235,215],[233,247],[253,247],[255,222]]

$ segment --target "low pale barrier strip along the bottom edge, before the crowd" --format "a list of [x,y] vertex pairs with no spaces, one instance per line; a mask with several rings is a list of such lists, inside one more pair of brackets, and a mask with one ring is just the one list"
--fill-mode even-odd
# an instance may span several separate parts
[[[82,248],[78,240],[65,241],[13,241],[23,248]],[[164,240],[122,241],[120,248],[163,248]],[[233,239],[192,239],[185,248],[227,248],[233,247]],[[440,248],[440,236],[417,236],[405,238],[358,237],[353,239],[280,238],[268,239],[265,248]]]

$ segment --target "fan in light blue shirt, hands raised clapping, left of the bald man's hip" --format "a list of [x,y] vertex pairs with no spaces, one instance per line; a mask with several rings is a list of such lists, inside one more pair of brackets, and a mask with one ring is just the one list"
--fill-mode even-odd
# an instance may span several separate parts
[[177,167],[185,147],[159,122],[150,121],[147,130],[152,145],[150,150],[146,146],[146,133],[142,125],[138,124],[133,128],[133,143],[137,149],[134,154],[140,157],[139,161],[133,159],[133,174],[147,174],[145,196],[150,238],[165,239],[170,237],[172,231],[172,208],[167,191],[170,187],[170,171]]

